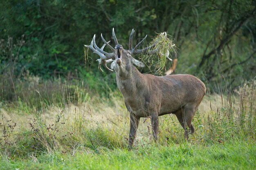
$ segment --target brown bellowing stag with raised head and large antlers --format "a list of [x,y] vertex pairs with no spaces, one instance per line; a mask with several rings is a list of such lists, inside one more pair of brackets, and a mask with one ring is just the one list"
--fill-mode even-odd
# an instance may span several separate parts
[[[100,58],[97,61],[100,71],[103,71],[101,69],[103,65],[107,70],[116,73],[117,87],[123,94],[125,106],[130,113],[129,148],[132,148],[136,138],[141,117],[150,117],[153,139],[157,141],[158,117],[172,113],[176,115],[184,129],[184,139],[189,139],[189,135],[195,131],[191,123],[192,119],[206,93],[204,83],[197,77],[188,74],[155,76],[140,73],[134,65],[138,67],[145,65],[136,60],[134,56],[139,53],[153,55],[157,53],[157,50],[153,49],[156,44],[138,49],[147,35],[132,48],[134,32],[132,29],[128,50],[118,43],[114,28],[112,29],[112,37],[115,41],[115,48],[109,44],[110,41],[107,42],[103,38],[102,34],[101,39],[104,44],[101,48],[95,42],[95,34],[91,44],[85,45],[99,55]],[[166,32],[162,33],[162,35],[164,34],[166,36]],[[108,46],[112,53],[103,51],[105,46]],[[109,63],[111,63],[111,69],[107,66]]]

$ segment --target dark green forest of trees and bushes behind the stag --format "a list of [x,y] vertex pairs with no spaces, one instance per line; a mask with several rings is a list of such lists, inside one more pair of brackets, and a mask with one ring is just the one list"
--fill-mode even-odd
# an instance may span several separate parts
[[166,31],[178,48],[175,74],[199,77],[209,92],[256,76],[254,0],[7,0],[0,3],[0,99],[18,101],[40,88],[54,94],[55,81],[115,91],[115,74],[101,73],[99,57],[88,51],[85,62],[84,53],[94,34],[99,46],[101,33],[113,46],[112,28],[125,49],[132,29],[147,43]]

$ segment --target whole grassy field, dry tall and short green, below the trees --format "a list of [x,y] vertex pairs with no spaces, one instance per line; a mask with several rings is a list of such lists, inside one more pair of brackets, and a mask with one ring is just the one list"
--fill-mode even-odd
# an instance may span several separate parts
[[[255,83],[235,93],[207,94],[184,141],[175,115],[141,119],[128,150],[129,114],[119,91],[106,97],[83,85],[59,85],[59,95],[32,90],[36,102],[0,103],[0,169],[255,169]],[[48,95],[45,95],[48,94]],[[57,96],[61,96],[57,99]],[[30,101],[30,102],[29,102]]]

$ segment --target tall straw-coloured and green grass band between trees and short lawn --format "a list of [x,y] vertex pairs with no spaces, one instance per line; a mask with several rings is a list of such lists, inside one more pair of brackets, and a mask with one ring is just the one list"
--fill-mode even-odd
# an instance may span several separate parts
[[[256,99],[254,81],[240,87],[236,94],[207,95],[193,119],[195,133],[189,142],[200,146],[256,141]],[[90,95],[81,85],[59,87],[60,96],[46,103],[42,91],[34,89],[40,107],[27,103],[26,109],[0,108],[1,158],[27,159],[46,153],[126,150],[129,114],[121,94],[111,92],[108,98]],[[47,89],[45,90],[47,91]],[[46,92],[45,92],[46,93]],[[46,93],[47,94],[47,93]],[[48,97],[48,96],[47,96]],[[60,99],[57,99],[61,97]],[[60,105],[58,102],[62,101]],[[19,105],[22,107],[22,105]],[[38,109],[40,108],[40,109]],[[183,129],[174,115],[159,120],[159,146],[183,144]],[[155,146],[150,120],[141,120],[135,150]]]

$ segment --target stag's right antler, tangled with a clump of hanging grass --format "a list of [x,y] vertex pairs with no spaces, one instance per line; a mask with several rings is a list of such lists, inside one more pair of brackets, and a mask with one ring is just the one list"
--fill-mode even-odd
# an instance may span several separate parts
[[[155,49],[155,50],[150,50],[150,49],[152,49],[152,48],[155,47],[156,43],[154,43],[154,44],[151,45],[151,46],[146,47],[145,49],[141,49],[141,50],[137,49],[137,48],[139,47],[139,45],[141,45],[142,42],[143,42],[144,40],[146,40],[147,35],[134,47],[134,49],[132,49],[132,36],[133,36],[133,34],[134,34],[134,30],[132,29],[132,32],[130,33],[130,38],[129,38],[129,50],[131,51],[132,54],[134,54],[134,55],[139,54],[139,53],[146,53],[146,54],[149,54],[149,55],[155,55],[155,54],[157,54],[157,49]],[[166,39],[166,37],[167,37],[166,32],[161,33],[161,35],[164,35],[164,37],[165,37],[165,39]],[[160,55],[164,55],[164,54],[160,53]],[[169,58],[169,51],[168,51],[168,50],[167,50],[165,56],[166,56],[166,58],[167,58],[168,60],[172,61],[171,58]]]

